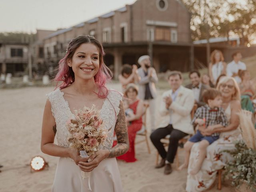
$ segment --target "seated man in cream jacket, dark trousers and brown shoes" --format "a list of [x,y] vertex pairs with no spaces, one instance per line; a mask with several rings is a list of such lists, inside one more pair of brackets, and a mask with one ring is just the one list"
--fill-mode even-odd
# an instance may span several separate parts
[[[164,121],[161,122],[160,128],[150,135],[152,143],[162,157],[156,168],[165,166],[164,174],[166,175],[172,172],[171,164],[177,152],[178,141],[184,136],[194,133],[190,117],[194,106],[192,90],[181,85],[182,75],[178,71],[173,71],[170,74],[168,82],[172,89],[163,93],[160,105],[160,114],[165,117]],[[160,140],[167,135],[170,135],[170,143],[166,152]]]

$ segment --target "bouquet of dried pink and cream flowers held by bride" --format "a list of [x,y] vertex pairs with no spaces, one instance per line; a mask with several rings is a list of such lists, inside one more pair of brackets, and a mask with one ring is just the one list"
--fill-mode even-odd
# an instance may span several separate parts
[[70,132],[70,147],[80,150],[82,157],[94,154],[107,137],[100,112],[94,105],[91,109],[84,107],[82,110],[76,110],[66,122],[66,127]]

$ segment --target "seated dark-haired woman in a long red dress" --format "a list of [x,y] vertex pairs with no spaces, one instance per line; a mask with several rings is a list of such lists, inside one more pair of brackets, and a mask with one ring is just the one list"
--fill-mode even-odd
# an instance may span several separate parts
[[129,108],[133,110],[134,116],[126,116],[126,121],[130,122],[130,125],[128,125],[129,150],[126,154],[118,156],[117,158],[126,162],[135,162],[134,141],[136,132],[142,128],[144,105],[143,101],[138,98],[138,87],[135,84],[128,84],[124,93],[128,97]]

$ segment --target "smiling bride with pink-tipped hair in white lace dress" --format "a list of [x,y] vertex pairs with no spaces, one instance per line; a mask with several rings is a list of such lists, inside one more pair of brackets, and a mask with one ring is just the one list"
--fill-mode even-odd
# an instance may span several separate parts
[[[56,81],[62,81],[56,90],[47,94],[42,123],[41,150],[60,157],[52,187],[53,192],[86,192],[88,179],[81,177],[81,170],[91,172],[93,192],[122,191],[117,156],[128,150],[128,134],[122,95],[105,87],[111,78],[103,61],[104,51],[92,36],[78,36],[68,44],[64,58],[59,62]],[[89,158],[69,148],[66,122],[74,110],[95,105],[100,110],[108,138],[104,145]],[[118,144],[112,148],[114,131]],[[54,144],[57,138],[58,145]]]

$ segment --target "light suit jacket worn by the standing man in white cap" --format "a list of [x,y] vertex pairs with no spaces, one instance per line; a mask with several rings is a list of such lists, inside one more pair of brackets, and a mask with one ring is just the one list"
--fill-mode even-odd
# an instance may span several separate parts
[[149,85],[149,89],[151,92],[151,95],[153,98],[156,98],[156,86],[155,83],[158,82],[158,78],[156,75],[156,70],[154,68],[150,68],[150,70],[153,70],[152,77],[145,76],[144,70],[141,68],[138,69],[138,74],[140,76],[140,81],[138,82],[139,84],[139,92],[138,92],[138,97],[142,100],[145,99],[145,92],[146,92],[146,83]]

